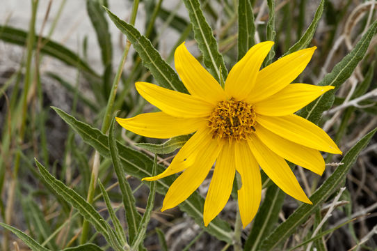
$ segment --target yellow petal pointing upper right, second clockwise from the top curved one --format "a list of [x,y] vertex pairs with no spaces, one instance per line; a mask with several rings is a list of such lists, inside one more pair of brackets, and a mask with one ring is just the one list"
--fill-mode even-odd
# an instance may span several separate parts
[[283,56],[281,59],[271,63],[271,65],[263,68],[257,76],[255,88],[246,98],[246,102],[259,102],[269,96],[284,89],[290,84],[300,73],[303,72],[307,63],[309,63],[316,47],[299,50]]

